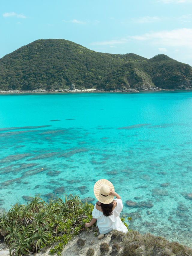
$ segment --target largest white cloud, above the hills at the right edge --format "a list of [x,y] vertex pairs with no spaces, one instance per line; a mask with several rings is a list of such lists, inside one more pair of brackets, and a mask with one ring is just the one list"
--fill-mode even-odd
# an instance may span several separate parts
[[192,48],[192,29],[173,29],[163,30],[160,32],[150,32],[144,35],[136,35],[129,37],[134,40],[149,40],[152,44],[164,46],[182,46]]

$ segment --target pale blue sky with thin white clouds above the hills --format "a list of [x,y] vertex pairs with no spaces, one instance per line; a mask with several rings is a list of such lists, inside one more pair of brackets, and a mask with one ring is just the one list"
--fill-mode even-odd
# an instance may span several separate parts
[[192,0],[1,0],[0,57],[37,39],[192,66]]

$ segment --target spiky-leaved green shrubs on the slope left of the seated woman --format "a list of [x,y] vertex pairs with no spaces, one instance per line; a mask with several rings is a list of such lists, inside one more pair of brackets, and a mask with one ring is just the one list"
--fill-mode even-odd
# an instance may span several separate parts
[[10,255],[27,255],[56,244],[50,254],[61,254],[64,245],[90,222],[93,205],[70,195],[46,203],[39,195],[27,205],[16,203],[0,214],[0,235]]

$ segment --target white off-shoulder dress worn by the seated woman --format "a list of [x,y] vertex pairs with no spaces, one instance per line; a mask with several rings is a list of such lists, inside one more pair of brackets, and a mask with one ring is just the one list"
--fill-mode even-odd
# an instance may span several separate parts
[[110,216],[104,216],[103,212],[96,209],[96,205],[94,206],[94,209],[92,211],[92,217],[97,219],[98,229],[101,234],[106,234],[113,229],[119,230],[124,233],[128,232],[127,227],[119,218],[119,214],[123,209],[122,200],[116,198],[114,201],[116,201],[117,204],[115,209],[113,210],[113,214]]

